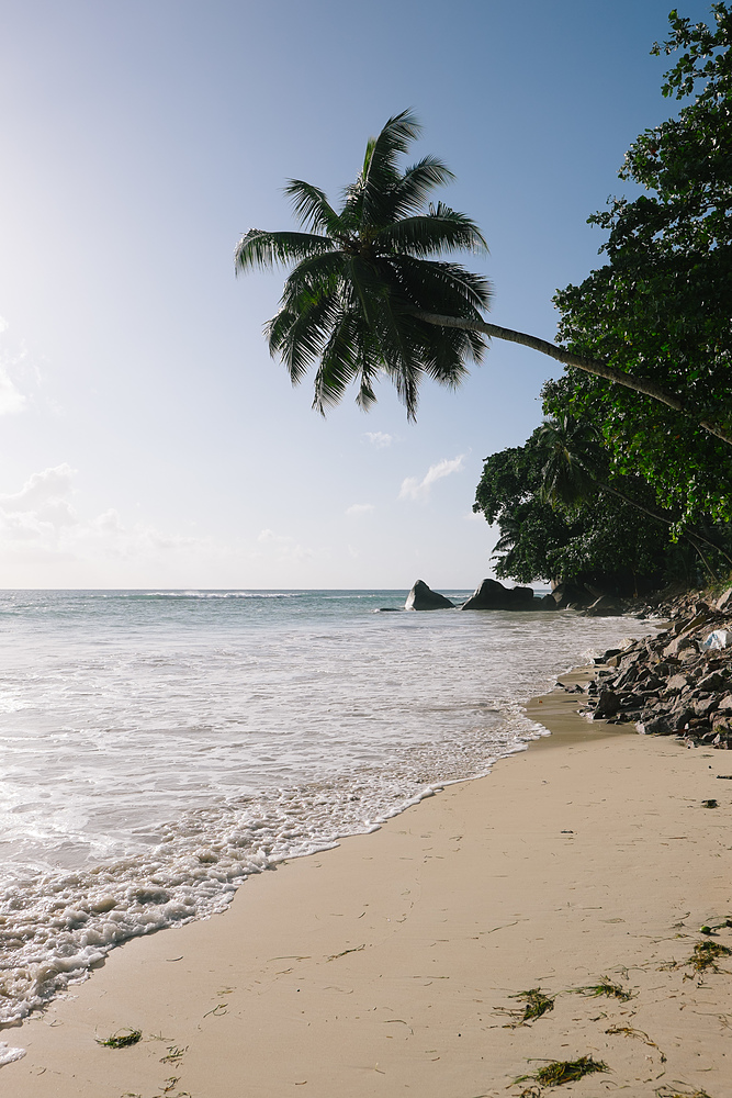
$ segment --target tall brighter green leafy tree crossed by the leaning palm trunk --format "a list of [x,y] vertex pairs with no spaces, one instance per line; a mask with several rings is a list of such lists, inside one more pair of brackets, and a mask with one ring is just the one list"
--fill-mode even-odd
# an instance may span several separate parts
[[[560,338],[678,393],[710,418],[732,421],[732,11],[714,26],[671,13],[654,53],[683,51],[664,94],[695,98],[646,130],[620,178],[641,187],[589,221],[608,232],[607,264],[558,292]],[[587,376],[547,386],[544,411],[595,425],[619,473],[642,475],[682,522],[732,517],[729,447],[637,393]]]

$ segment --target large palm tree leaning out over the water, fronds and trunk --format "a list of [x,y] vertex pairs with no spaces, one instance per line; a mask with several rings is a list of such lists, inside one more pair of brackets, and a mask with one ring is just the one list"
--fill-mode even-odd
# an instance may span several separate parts
[[653,381],[483,318],[491,300],[486,279],[435,258],[487,250],[464,214],[441,202],[427,205],[452,172],[431,156],[399,169],[399,156],[420,132],[410,111],[390,119],[369,141],[340,212],[319,188],[291,179],[285,193],[303,232],[252,228],[237,245],[237,272],[295,265],[266,330],[270,352],[282,357],[294,384],[318,363],[314,407],[324,413],[358,379],[357,400],[368,408],[375,402],[374,381],[385,372],[414,418],[423,376],[454,388],[466,373],[465,360],[481,360],[488,336],[651,396],[732,445],[720,424]]

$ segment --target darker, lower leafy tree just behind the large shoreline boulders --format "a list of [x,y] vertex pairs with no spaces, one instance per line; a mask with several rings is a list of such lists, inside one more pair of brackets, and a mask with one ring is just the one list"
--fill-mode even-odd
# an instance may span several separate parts
[[592,432],[566,419],[486,458],[473,509],[498,525],[496,574],[633,594],[671,574],[692,579],[699,564],[717,562],[703,531],[683,545],[669,541],[671,519],[640,478],[622,478],[620,491],[607,483],[608,472]]

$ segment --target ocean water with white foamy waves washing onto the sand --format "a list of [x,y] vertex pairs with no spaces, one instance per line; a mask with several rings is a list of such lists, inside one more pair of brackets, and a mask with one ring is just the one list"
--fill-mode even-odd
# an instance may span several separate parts
[[405,597],[0,592],[0,1022],[485,774],[542,735],[521,703],[630,625],[383,612]]

